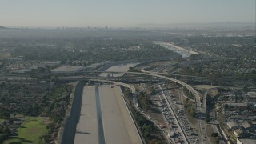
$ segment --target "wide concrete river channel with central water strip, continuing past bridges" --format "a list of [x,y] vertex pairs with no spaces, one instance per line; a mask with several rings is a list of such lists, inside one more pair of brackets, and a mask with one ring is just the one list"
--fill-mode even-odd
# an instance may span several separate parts
[[[106,71],[126,71],[136,63],[111,66]],[[78,82],[62,144],[142,143],[123,99],[120,86]]]

